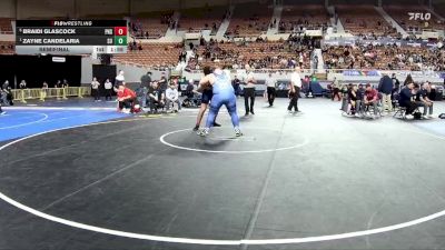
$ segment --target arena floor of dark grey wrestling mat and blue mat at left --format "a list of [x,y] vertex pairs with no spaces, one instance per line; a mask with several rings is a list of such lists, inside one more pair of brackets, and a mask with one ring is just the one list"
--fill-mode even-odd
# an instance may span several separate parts
[[258,98],[241,138],[224,109],[200,138],[196,110],[66,103],[0,117],[1,250],[445,249],[445,103],[363,120]]

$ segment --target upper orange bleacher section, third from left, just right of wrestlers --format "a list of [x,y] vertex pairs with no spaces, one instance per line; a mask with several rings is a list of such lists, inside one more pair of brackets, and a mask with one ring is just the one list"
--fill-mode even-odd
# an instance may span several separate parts
[[234,37],[257,37],[266,32],[274,8],[260,3],[237,4],[226,34]]

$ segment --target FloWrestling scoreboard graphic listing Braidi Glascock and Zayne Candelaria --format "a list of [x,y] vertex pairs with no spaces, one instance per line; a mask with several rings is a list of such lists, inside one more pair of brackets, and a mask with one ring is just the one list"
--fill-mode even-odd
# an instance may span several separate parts
[[126,20],[17,20],[18,54],[126,53]]

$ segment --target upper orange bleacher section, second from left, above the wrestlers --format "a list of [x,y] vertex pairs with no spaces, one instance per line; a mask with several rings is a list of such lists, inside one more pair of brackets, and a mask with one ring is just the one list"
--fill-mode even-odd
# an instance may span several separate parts
[[224,21],[227,9],[228,7],[222,6],[182,10],[178,29],[185,31],[209,29],[215,33]]

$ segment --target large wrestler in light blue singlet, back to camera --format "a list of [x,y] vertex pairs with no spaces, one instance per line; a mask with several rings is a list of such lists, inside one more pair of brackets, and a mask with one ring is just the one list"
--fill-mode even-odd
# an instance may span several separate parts
[[215,70],[214,76],[214,97],[210,101],[210,110],[207,117],[206,128],[200,134],[205,136],[208,133],[209,129],[214,126],[214,121],[219,112],[219,109],[221,106],[226,106],[227,111],[231,117],[231,123],[234,124],[235,133],[237,137],[239,137],[241,136],[241,132],[239,130],[239,118],[236,108],[235,90],[231,87],[230,78],[222,70]]

